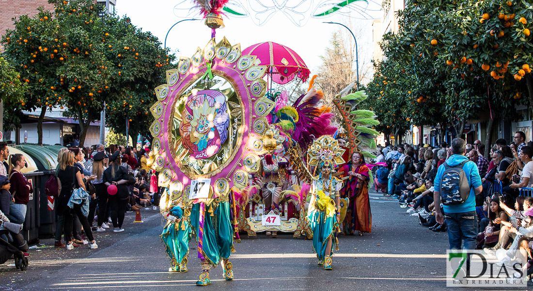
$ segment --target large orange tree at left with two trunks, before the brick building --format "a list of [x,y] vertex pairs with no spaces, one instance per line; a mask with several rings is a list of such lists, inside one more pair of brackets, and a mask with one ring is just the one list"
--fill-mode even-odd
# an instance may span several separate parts
[[109,82],[110,76],[100,37],[100,6],[90,0],[49,2],[55,5],[54,12],[39,7],[33,18],[22,15],[15,20],[15,28],[2,37],[4,54],[28,86],[20,109],[41,109],[38,143],[42,144],[46,109],[60,106],[67,107],[64,115],[79,121],[83,145],[88,124],[102,109],[104,96],[96,88]]

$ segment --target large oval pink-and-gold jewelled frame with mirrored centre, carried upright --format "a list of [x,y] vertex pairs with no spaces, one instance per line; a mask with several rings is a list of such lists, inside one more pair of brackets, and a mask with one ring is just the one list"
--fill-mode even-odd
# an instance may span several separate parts
[[159,186],[179,192],[187,207],[200,202],[188,199],[191,180],[211,179],[209,196],[201,200],[208,207],[231,188],[246,187],[259,167],[260,137],[269,128],[261,106],[272,103],[263,98],[265,72],[255,56],[241,55],[240,45],[212,38],[191,58],[181,57],[178,68],[166,72],[167,83],[156,88],[152,167]]

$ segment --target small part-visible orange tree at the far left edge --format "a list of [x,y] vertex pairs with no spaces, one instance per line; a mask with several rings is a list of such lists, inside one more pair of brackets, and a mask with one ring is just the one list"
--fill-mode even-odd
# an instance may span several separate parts
[[4,108],[7,108],[4,110],[4,120],[9,121],[4,123],[4,131],[12,129],[12,125],[20,126],[26,90],[25,83],[20,81],[19,72],[5,58],[0,57],[0,98],[4,102]]

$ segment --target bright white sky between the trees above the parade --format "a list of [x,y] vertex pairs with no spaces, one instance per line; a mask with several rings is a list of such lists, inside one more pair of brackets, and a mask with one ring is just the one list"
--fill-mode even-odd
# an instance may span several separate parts
[[[118,15],[127,15],[135,26],[151,32],[164,43],[168,29],[182,20],[173,12],[174,6],[182,1],[117,0],[115,9]],[[232,45],[240,43],[243,50],[250,45],[265,41],[285,45],[300,55],[313,74],[322,64],[320,55],[324,54],[329,46],[330,36],[341,29],[348,33],[348,30],[340,25],[322,23],[322,21],[342,23],[343,20],[345,18],[342,15],[334,14],[325,19],[310,18],[305,26],[297,27],[283,13],[277,12],[264,26],[256,26],[250,18],[224,17],[225,28],[216,30],[216,41],[219,42],[225,36]],[[372,20],[352,19],[352,27],[356,28],[352,30],[360,31],[360,33],[354,31],[358,37],[360,59],[372,59],[371,24]],[[210,38],[211,29],[204,25],[203,20],[183,21],[168,33],[166,46],[176,54],[176,57],[190,58],[198,47],[203,49]]]

